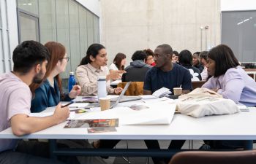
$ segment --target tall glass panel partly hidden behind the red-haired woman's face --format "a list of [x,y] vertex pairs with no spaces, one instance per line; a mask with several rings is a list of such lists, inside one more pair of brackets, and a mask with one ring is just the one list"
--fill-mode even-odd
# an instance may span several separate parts
[[[68,0],[56,0],[56,28],[57,42],[64,44],[67,50],[67,55],[70,55]],[[66,71],[61,74],[61,77],[69,77],[70,64],[70,62],[67,63]]]

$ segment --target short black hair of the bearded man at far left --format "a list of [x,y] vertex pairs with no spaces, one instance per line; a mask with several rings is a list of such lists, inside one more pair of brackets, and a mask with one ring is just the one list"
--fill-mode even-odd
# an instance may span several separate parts
[[24,41],[18,44],[12,53],[13,71],[26,74],[33,66],[41,64],[49,58],[50,54],[44,45],[32,40]]

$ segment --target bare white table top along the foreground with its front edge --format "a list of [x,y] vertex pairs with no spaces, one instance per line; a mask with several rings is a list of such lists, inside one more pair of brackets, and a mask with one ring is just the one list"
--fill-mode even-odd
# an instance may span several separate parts
[[175,114],[170,125],[119,125],[116,132],[87,133],[86,128],[64,128],[67,122],[26,136],[14,136],[11,128],[0,132],[0,138],[46,139],[256,139],[256,109],[237,114],[194,118]]

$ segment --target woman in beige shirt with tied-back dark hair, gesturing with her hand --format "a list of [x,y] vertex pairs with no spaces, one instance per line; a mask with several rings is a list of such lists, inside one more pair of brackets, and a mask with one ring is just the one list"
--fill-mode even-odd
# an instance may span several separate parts
[[106,77],[107,93],[119,94],[122,91],[121,87],[110,87],[111,79],[121,78],[121,74],[125,71],[109,71],[107,65],[107,52],[102,44],[91,44],[86,52],[78,69],[76,75],[78,84],[82,87],[82,95],[97,95],[97,77]]

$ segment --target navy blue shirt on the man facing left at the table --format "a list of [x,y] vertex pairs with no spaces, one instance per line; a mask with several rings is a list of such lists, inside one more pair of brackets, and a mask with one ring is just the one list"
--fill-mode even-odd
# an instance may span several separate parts
[[154,91],[167,87],[173,93],[173,87],[182,87],[183,90],[192,90],[191,76],[188,69],[173,63],[171,71],[162,71],[157,67],[149,69],[144,81],[144,90]]

